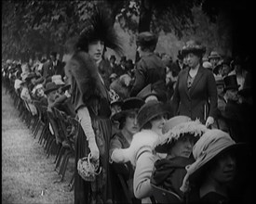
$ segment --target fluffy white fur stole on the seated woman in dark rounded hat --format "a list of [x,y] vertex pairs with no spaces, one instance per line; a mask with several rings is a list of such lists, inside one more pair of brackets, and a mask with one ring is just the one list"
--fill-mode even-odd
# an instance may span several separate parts
[[140,133],[134,134],[131,144],[128,148],[121,149],[125,160],[129,160],[133,166],[136,164],[136,156],[141,147],[155,148],[159,142],[159,135],[151,130],[142,130]]

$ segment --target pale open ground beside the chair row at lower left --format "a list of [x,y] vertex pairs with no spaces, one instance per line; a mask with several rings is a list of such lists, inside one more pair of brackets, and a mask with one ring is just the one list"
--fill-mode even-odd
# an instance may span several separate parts
[[[20,121],[19,111],[2,87],[2,203],[73,204],[74,191],[68,185],[68,169],[62,183],[54,172],[54,156],[46,158],[44,148]],[[70,167],[71,168],[71,167]]]

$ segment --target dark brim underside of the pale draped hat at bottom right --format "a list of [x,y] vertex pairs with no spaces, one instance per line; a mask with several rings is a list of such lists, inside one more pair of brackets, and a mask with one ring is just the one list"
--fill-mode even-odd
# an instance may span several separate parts
[[195,170],[195,172],[191,173],[189,176],[189,181],[190,182],[196,182],[196,180],[198,178],[201,178],[202,175],[204,174],[205,171],[207,171],[209,169],[210,164],[212,164],[212,162],[214,162],[216,159],[219,158],[220,155],[222,155],[223,153],[226,153],[228,151],[236,151],[236,156],[238,156],[238,153],[240,154],[241,152],[245,151],[241,151],[243,149],[247,149],[248,145],[246,143],[236,143],[234,145],[231,145],[229,147],[226,147],[224,149],[222,149],[220,152],[218,152],[216,155],[214,155],[214,157],[210,158],[210,159],[206,159],[206,161],[201,164],[201,166]]

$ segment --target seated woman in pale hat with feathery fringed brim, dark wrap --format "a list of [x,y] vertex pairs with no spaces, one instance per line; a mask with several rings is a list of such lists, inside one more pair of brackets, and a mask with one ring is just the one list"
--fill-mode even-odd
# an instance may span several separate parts
[[171,191],[183,200],[180,187],[186,174],[185,166],[195,161],[192,149],[207,130],[200,121],[191,121],[187,116],[169,119],[163,128],[163,132],[168,132],[155,147],[156,152],[167,153],[168,156],[155,161],[151,184]]

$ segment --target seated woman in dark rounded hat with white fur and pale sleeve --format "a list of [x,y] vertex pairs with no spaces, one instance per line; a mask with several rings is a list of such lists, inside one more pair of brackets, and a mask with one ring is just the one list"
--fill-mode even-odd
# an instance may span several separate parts
[[118,150],[120,157],[130,160],[135,166],[133,190],[141,203],[152,202],[150,178],[155,160],[161,158],[154,151],[154,147],[162,136],[162,128],[168,116],[168,109],[162,102],[152,100],[144,104],[137,116],[140,132],[133,135],[130,147]]

